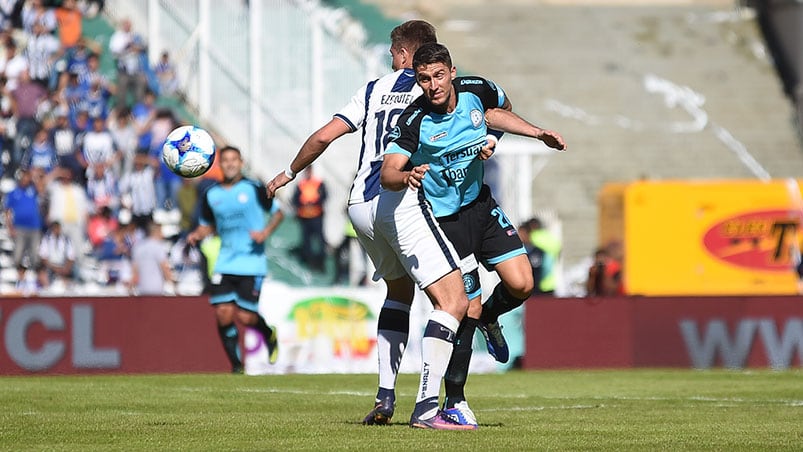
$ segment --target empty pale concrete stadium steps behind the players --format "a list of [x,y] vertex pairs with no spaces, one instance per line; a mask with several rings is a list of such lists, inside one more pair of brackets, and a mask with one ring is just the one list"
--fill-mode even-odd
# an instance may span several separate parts
[[[772,178],[803,174],[792,105],[750,11],[733,1],[362,3],[396,23],[431,21],[458,73],[498,82],[515,111],[566,138],[569,151],[553,154],[533,183],[533,211],[558,212],[570,267],[597,246],[606,182],[756,178],[718,134]],[[672,131],[694,115],[704,127]]]

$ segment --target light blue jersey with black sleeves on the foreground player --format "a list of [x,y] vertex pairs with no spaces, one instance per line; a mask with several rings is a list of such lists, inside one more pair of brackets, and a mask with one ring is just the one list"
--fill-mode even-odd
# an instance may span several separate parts
[[419,97],[399,117],[385,151],[408,156],[411,166],[430,165],[423,188],[436,217],[452,215],[477,199],[484,176],[477,156],[488,134],[485,110],[505,103],[504,91],[490,80],[458,77],[452,83],[455,110],[436,113]]

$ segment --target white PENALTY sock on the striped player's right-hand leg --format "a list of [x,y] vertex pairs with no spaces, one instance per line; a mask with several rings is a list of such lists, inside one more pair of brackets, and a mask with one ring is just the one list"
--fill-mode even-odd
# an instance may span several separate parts
[[429,419],[438,412],[441,382],[449,366],[455,333],[460,321],[446,311],[432,311],[421,341],[421,380],[415,413]]

